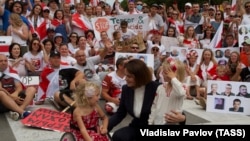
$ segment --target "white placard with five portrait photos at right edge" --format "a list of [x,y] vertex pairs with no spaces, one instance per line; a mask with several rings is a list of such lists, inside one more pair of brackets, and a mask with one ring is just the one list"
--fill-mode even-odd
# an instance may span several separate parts
[[206,111],[250,115],[249,88],[249,82],[208,80]]

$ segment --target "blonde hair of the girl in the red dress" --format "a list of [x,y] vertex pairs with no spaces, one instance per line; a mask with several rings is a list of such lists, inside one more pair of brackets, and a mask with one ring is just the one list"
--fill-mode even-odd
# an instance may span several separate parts
[[76,101],[76,105],[86,106],[89,105],[89,99],[97,93],[100,93],[100,87],[97,84],[85,82],[77,85],[73,97]]

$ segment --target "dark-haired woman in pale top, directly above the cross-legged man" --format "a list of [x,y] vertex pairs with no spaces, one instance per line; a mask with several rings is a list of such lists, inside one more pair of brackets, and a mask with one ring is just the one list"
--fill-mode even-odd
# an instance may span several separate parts
[[9,46],[9,65],[17,71],[20,77],[27,76],[27,69],[25,63],[28,63],[24,60],[21,53],[21,46],[18,43],[12,43]]

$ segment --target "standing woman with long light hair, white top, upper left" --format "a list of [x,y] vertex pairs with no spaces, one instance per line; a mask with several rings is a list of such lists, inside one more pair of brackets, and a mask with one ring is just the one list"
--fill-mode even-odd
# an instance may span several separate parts
[[[9,17],[10,25],[7,29],[7,36],[12,36],[12,42],[21,45],[21,52],[24,54],[28,51],[27,41],[29,39],[28,26],[22,21],[21,17],[12,13]],[[22,54],[22,55],[23,55]]]

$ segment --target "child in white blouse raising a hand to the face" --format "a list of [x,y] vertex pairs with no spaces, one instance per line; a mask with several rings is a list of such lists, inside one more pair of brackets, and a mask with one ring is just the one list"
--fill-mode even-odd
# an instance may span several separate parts
[[171,111],[182,111],[186,95],[182,81],[185,78],[185,65],[179,60],[168,58],[163,62],[162,76],[164,81],[156,91],[156,97],[149,115],[149,125],[166,124],[165,116]]

